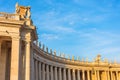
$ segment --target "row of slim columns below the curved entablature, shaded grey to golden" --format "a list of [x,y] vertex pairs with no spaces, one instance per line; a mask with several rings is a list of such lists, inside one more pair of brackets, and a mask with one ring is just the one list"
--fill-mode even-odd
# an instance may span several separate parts
[[34,60],[35,80],[119,80],[118,71],[72,69]]

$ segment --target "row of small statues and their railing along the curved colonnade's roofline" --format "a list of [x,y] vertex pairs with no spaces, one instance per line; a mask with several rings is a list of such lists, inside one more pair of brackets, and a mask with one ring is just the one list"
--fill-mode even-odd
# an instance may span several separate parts
[[95,62],[92,61],[90,62],[88,58],[80,58],[80,57],[74,57],[74,56],[69,56],[63,53],[57,53],[56,50],[48,49],[48,47],[45,47],[44,44],[41,44],[41,42],[35,42],[34,45],[36,45],[40,50],[44,52],[45,55],[49,55],[51,57],[57,58],[57,59],[64,59],[64,60],[69,60],[69,61],[77,61],[77,62],[82,62],[82,63],[93,63],[93,64],[117,64],[115,62],[109,62],[108,60],[101,60],[100,62]]

